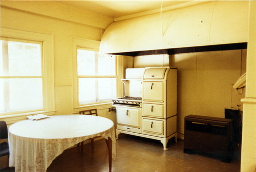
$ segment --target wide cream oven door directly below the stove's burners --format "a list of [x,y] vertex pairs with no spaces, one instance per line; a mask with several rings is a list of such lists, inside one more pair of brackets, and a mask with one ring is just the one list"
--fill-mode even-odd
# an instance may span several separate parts
[[140,128],[141,108],[117,107],[117,125]]

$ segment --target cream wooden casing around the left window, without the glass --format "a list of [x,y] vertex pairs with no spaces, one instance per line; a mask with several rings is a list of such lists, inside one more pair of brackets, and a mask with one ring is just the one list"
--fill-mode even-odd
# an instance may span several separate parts
[[43,64],[41,65],[44,66],[44,68],[42,68],[43,109],[1,113],[0,118],[8,116],[26,116],[38,113],[53,115],[55,113],[53,35],[1,28],[1,39],[20,40],[20,42],[23,40],[24,42],[42,42]]

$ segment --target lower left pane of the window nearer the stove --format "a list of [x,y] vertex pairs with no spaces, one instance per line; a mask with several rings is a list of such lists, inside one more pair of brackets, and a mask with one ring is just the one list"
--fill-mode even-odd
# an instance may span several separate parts
[[79,103],[85,104],[96,102],[96,79],[95,78],[79,78]]

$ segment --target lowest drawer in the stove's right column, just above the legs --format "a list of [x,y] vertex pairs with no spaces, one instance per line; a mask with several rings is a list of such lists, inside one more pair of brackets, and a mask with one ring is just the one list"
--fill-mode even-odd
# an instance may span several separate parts
[[163,135],[164,134],[164,121],[154,119],[142,119],[142,132],[149,135]]

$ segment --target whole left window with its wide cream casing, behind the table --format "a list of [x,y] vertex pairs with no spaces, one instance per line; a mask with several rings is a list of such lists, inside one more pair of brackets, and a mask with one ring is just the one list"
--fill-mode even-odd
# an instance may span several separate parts
[[53,61],[53,35],[1,28],[1,116],[55,113]]

